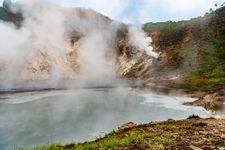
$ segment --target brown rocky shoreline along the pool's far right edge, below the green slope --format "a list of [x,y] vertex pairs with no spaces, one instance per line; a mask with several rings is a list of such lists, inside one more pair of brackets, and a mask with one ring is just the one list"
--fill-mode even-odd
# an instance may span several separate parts
[[[170,86],[168,86],[168,85]],[[173,85],[171,87],[171,84]],[[147,82],[138,88],[139,91],[153,91],[159,94],[172,96],[184,96],[196,99],[194,102],[184,103],[187,106],[204,107],[214,115],[225,116],[225,88],[214,91],[191,90],[184,85],[177,84],[173,80],[161,81],[159,83]]]

